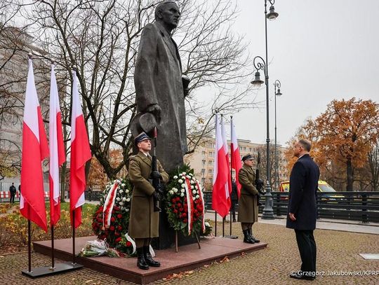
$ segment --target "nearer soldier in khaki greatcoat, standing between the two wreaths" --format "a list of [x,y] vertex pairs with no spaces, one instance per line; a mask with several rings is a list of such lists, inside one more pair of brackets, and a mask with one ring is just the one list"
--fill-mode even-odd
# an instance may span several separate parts
[[138,148],[138,154],[133,155],[129,162],[129,179],[134,188],[128,233],[135,239],[137,266],[147,270],[149,266],[159,267],[161,265],[149,253],[152,237],[159,236],[159,211],[154,211],[154,196],[157,197],[158,193],[149,182],[149,178],[160,178],[167,183],[168,174],[159,161],[157,162],[158,171],[152,172],[152,157],[149,155],[152,144],[145,132],[138,134],[134,141]]

